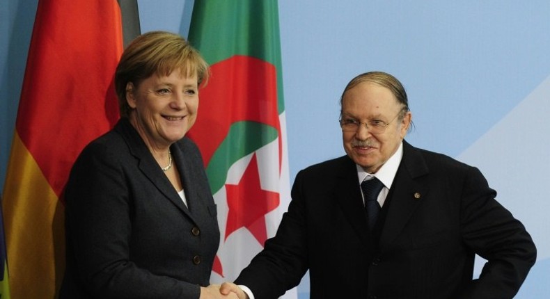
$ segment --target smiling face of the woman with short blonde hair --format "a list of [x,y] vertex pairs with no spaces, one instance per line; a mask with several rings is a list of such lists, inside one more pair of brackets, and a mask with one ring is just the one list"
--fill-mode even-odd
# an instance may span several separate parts
[[165,149],[193,127],[198,108],[197,75],[174,70],[168,76],[153,74],[139,86],[128,83],[130,122],[150,149]]

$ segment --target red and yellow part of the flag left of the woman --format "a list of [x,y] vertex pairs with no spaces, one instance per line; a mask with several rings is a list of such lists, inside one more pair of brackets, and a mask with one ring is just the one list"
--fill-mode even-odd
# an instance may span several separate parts
[[63,187],[81,149],[118,120],[121,26],[116,0],[38,2],[2,202],[12,298],[56,298]]

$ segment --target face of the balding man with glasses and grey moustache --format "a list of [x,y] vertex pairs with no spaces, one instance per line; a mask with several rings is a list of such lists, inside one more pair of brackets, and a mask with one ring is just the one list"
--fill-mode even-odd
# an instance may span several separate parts
[[[342,131],[347,155],[366,172],[377,172],[398,149],[411,122],[407,111],[400,119],[403,105],[383,86],[363,82],[347,90],[342,101],[342,119],[363,122],[356,131]],[[396,117],[397,116],[397,117]],[[382,132],[372,132],[364,122],[375,120],[387,125]]]

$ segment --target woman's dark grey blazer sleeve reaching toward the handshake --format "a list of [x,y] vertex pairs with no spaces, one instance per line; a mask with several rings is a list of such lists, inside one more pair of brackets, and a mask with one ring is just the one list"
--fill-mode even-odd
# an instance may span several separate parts
[[130,259],[128,158],[107,148],[88,146],[65,190],[68,250],[76,268],[72,279],[85,282],[93,298],[198,298],[197,284],[155,275]]

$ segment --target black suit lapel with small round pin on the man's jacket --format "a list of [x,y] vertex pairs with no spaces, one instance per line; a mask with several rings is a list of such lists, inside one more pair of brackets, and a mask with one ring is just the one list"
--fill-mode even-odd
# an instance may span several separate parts
[[429,191],[427,184],[423,184],[427,173],[421,153],[403,141],[403,158],[388,194],[391,202],[380,235],[381,250],[397,238],[418,205],[422,204],[423,197]]

